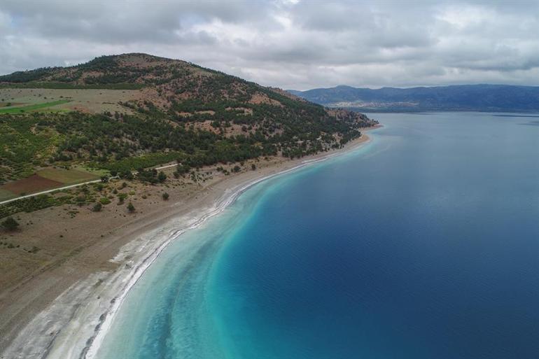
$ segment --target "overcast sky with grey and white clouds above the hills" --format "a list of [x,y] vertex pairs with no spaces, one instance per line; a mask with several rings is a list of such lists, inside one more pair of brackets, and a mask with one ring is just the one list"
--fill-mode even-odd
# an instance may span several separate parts
[[0,73],[147,52],[262,85],[539,85],[538,2],[0,0]]

